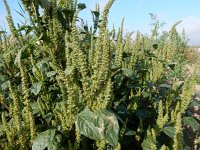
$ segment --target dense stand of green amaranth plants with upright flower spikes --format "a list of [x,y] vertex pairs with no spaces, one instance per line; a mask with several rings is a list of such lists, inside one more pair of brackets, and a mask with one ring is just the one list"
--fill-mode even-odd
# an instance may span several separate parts
[[89,27],[76,0],[21,0],[29,21],[16,28],[4,0],[12,35],[0,32],[0,149],[183,150],[182,125],[199,132],[185,113],[195,73],[178,84],[180,22],[159,34],[153,19],[151,35],[133,40],[123,21],[107,29],[113,2],[91,11]]

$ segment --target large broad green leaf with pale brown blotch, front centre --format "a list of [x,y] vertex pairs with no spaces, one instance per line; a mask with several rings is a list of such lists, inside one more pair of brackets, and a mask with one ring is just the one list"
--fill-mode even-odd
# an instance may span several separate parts
[[76,116],[77,130],[93,140],[103,139],[117,146],[119,125],[116,116],[107,110],[92,112],[88,108]]

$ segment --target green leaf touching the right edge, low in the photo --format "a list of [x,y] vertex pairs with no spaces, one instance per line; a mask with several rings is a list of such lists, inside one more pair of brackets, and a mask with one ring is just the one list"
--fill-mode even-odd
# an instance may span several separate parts
[[193,117],[183,117],[183,123],[190,126],[194,132],[200,129],[199,123]]

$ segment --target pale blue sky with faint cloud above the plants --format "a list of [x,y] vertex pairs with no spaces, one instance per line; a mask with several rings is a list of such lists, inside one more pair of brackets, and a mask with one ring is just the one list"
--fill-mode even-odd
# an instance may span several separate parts
[[[0,0],[0,26],[4,26],[5,7],[3,0]],[[12,10],[15,22],[19,22],[20,17],[14,11],[19,10],[18,0],[7,0]],[[99,3],[101,8],[104,7],[108,0],[78,0],[85,3],[87,9],[80,13],[80,17],[91,22],[90,10],[95,8]],[[177,27],[179,32],[183,28],[190,39],[190,45],[200,45],[200,0],[116,0],[109,14],[109,27],[113,24],[119,27],[121,20],[125,17],[125,29],[127,31],[140,30],[142,33],[149,33],[151,20],[149,13],[156,14],[160,21],[166,25],[163,30],[169,30],[177,21],[183,22]]]

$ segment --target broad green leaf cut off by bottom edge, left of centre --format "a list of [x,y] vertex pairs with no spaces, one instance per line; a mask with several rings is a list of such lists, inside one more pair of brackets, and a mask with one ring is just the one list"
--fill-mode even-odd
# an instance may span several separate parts
[[61,136],[56,135],[55,129],[40,133],[33,141],[32,150],[61,150]]

